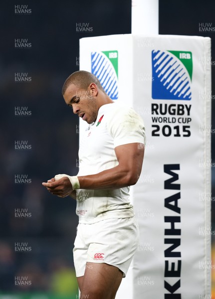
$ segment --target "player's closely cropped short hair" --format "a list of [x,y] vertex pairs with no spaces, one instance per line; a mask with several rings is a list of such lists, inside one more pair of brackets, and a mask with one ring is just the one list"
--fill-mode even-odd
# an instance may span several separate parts
[[86,90],[91,83],[95,83],[98,88],[105,93],[99,79],[95,75],[87,71],[77,71],[72,73],[64,82],[62,87],[62,95],[64,95],[65,91],[71,84]]

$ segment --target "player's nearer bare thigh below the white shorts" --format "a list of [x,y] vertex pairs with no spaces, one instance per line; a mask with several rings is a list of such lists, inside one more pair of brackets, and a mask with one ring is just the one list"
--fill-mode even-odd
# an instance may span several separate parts
[[89,295],[89,298],[114,299],[122,277],[122,271],[115,266],[87,262],[81,295]]

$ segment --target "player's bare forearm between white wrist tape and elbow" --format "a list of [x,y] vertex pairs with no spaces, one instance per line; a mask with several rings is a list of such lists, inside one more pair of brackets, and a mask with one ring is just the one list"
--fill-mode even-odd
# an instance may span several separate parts
[[134,185],[140,173],[123,169],[119,165],[97,174],[78,176],[80,189],[109,189]]

